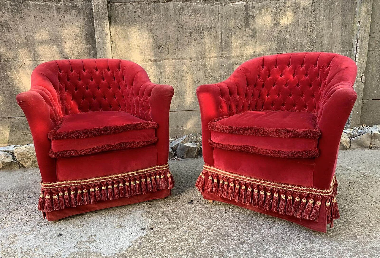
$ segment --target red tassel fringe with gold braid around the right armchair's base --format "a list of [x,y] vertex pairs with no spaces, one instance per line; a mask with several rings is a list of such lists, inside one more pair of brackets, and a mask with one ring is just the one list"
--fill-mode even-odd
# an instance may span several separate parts
[[[339,209],[335,197],[337,193],[335,176],[331,182],[331,189],[325,190],[232,175],[236,174],[205,164],[196,186],[202,193],[206,192],[261,210],[295,216],[313,222],[318,222],[320,206],[324,200],[327,222],[333,226],[333,220],[339,219]],[[206,187],[204,187],[205,185]]]

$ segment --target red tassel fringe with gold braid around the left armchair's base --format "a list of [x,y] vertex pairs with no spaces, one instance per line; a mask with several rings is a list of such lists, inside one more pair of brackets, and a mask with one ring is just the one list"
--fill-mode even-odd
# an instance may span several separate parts
[[[154,182],[153,186],[151,181]],[[146,184],[146,182],[149,183]],[[174,179],[168,165],[158,165],[101,178],[54,183],[41,182],[38,210],[42,212],[58,211],[67,207],[94,204],[98,201],[129,198],[133,195],[147,194],[163,189],[170,190],[173,187]]]

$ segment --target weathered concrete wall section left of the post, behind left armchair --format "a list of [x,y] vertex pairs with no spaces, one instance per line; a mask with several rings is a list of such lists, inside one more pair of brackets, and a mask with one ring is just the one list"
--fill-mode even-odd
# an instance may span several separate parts
[[30,89],[40,63],[96,57],[92,3],[7,1],[0,16],[0,145],[31,143],[16,95]]

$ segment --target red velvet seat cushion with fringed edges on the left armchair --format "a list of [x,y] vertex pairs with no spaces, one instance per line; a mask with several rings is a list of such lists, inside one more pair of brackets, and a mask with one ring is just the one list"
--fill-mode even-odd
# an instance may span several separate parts
[[84,112],[63,117],[48,134],[53,158],[139,148],[157,141],[157,123],[121,111]]

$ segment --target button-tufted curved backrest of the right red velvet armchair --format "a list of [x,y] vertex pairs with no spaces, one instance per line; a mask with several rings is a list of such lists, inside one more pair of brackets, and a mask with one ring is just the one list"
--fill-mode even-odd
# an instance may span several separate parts
[[[225,115],[249,109],[320,113],[323,101],[331,94],[329,89],[334,86],[334,81],[341,83],[339,77],[346,68],[356,69],[353,62],[345,59],[348,58],[335,53],[310,52],[249,60],[227,79],[236,86],[228,93],[230,103],[225,102],[228,106],[221,109],[226,110]],[[353,67],[348,67],[350,65]],[[236,92],[233,94],[231,91]]]

